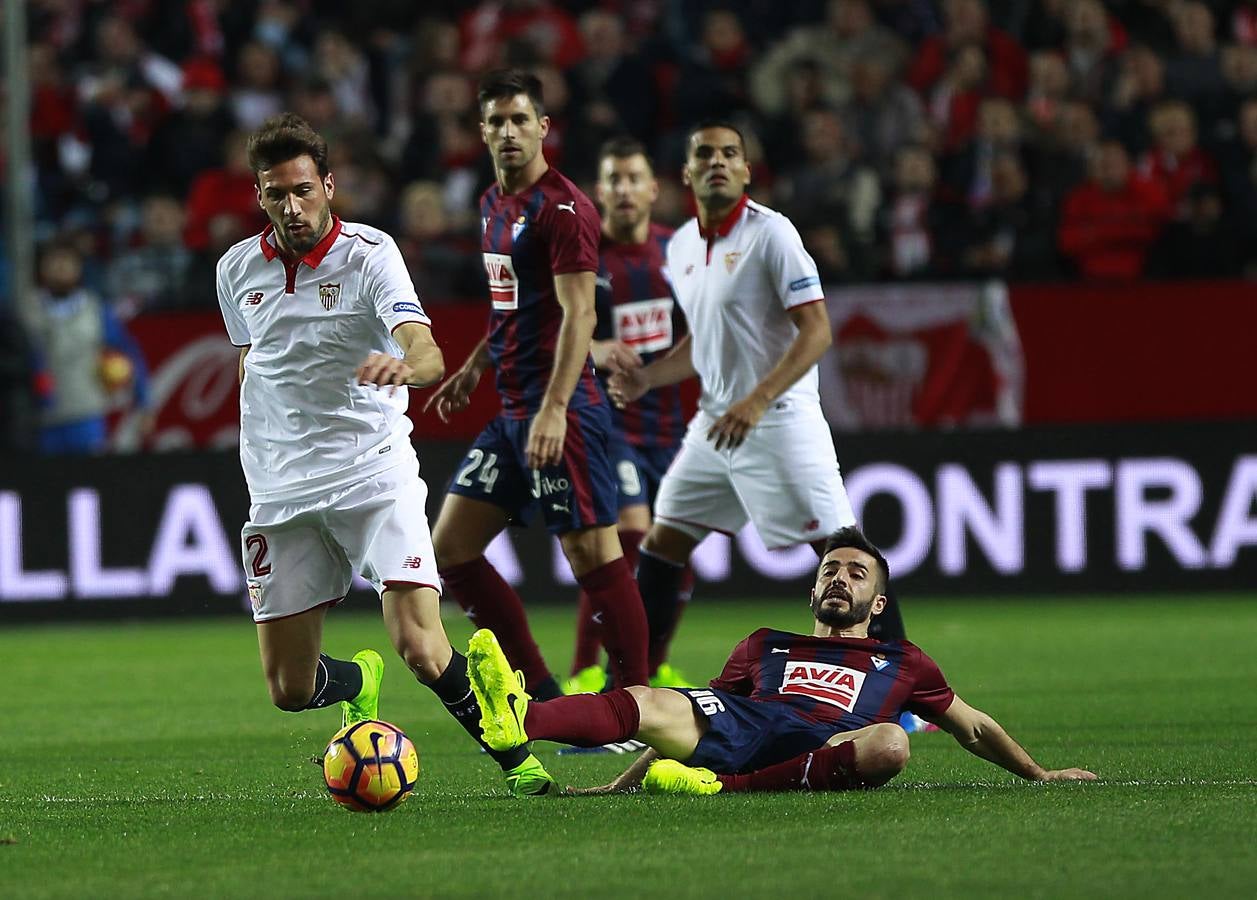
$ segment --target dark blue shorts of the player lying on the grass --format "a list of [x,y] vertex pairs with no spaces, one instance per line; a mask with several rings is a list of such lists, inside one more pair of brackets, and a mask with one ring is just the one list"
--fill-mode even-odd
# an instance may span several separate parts
[[686,766],[735,776],[776,766],[825,745],[833,724],[812,722],[789,704],[752,700],[706,688],[674,688],[708,720],[708,732]]

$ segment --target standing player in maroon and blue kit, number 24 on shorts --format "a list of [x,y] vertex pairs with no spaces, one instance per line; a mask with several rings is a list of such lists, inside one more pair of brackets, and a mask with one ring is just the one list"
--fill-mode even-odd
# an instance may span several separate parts
[[645,684],[646,616],[615,530],[611,407],[590,358],[597,210],[546,162],[549,118],[534,75],[489,73],[479,103],[497,173],[480,201],[489,331],[427,406],[442,419],[465,407],[491,365],[502,412],[468,451],[432,530],[441,579],[500,635],[529,689],[557,696],[519,596],[484,558],[503,528],[539,510],[601,615],[616,684]]

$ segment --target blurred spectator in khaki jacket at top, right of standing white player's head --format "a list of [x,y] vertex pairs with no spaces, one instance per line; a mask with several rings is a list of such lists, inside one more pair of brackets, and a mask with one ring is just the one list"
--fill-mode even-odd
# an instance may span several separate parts
[[904,43],[877,24],[869,0],[830,0],[823,23],[796,28],[760,57],[750,73],[750,89],[757,109],[781,116],[789,106],[792,73],[807,63],[817,69],[818,99],[833,106],[850,96],[857,59],[880,59],[894,75],[905,57]]

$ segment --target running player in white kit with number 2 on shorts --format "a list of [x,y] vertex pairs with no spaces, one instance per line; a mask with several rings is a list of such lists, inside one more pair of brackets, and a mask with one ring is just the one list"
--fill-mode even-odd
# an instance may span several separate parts
[[[380,654],[321,652],[327,610],[357,571],[380,593],[398,655],[479,740],[466,659],[441,625],[406,417],[406,388],[445,373],[430,321],[392,238],[332,215],[327,142],[304,119],[263,123],[249,163],[272,224],[222,255],[217,294],[240,347],[241,551],[272,701],[339,701],[344,724],[377,716]],[[538,781],[527,749],[493,755],[512,789],[522,773]]]

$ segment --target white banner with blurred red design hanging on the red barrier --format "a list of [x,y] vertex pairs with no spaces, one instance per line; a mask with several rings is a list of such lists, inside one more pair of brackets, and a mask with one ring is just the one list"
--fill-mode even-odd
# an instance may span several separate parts
[[1002,283],[832,288],[826,305],[821,401],[835,429],[1021,424],[1024,363]]

